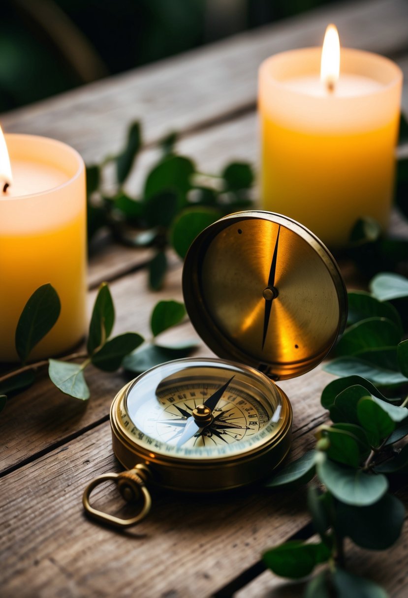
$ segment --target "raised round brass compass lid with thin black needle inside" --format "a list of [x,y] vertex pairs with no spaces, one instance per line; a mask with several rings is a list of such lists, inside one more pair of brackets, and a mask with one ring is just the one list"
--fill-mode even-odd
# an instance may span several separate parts
[[272,212],[238,212],[203,230],[185,257],[182,288],[208,347],[273,380],[316,367],[346,324],[333,256],[302,224]]

